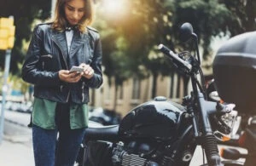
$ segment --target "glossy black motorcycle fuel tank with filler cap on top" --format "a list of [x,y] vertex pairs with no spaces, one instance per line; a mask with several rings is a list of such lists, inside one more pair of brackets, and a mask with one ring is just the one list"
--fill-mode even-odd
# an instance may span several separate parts
[[184,107],[165,97],[143,103],[131,110],[119,125],[119,135],[125,137],[171,139],[176,135]]

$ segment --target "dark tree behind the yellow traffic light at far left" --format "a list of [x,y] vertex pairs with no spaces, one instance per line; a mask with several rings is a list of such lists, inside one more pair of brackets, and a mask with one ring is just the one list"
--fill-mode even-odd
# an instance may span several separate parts
[[[25,58],[24,42],[29,41],[34,20],[46,20],[50,15],[51,1],[45,0],[0,0],[0,17],[15,18],[15,47],[12,50],[10,72],[20,75],[18,64]],[[0,68],[4,66],[4,51],[0,52]]]

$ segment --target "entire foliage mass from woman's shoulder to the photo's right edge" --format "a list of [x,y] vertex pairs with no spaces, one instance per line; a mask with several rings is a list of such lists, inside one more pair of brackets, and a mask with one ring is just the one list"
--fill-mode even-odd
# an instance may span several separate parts
[[182,48],[178,29],[184,22],[194,27],[204,58],[212,54],[212,37],[234,36],[252,30],[249,25],[255,25],[253,0],[123,0],[126,9],[119,10],[126,14],[112,16],[104,10],[104,1],[101,2],[97,22],[104,25],[98,26],[103,34],[103,65],[105,74],[115,77],[116,83],[132,73],[139,77],[151,73],[156,78],[159,74],[175,72],[155,46],[164,43],[171,49]]

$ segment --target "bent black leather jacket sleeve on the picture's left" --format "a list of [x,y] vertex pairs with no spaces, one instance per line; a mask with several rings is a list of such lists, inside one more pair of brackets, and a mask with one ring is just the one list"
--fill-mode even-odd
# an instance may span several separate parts
[[25,62],[22,66],[21,77],[27,83],[39,86],[56,86],[60,84],[58,72],[46,72],[39,69],[39,60],[42,52],[42,33],[39,26],[36,26],[32,33],[32,40],[29,45]]

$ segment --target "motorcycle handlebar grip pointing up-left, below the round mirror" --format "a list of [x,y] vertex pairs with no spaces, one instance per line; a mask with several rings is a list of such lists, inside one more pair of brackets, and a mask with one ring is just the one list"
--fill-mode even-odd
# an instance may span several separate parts
[[169,58],[171,58],[174,61],[174,63],[186,67],[186,69],[188,69],[188,71],[191,72],[192,66],[189,64],[189,62],[181,59],[177,54],[173,53],[173,51],[171,49],[168,49],[164,44],[160,43],[158,49],[162,53],[166,54]]

